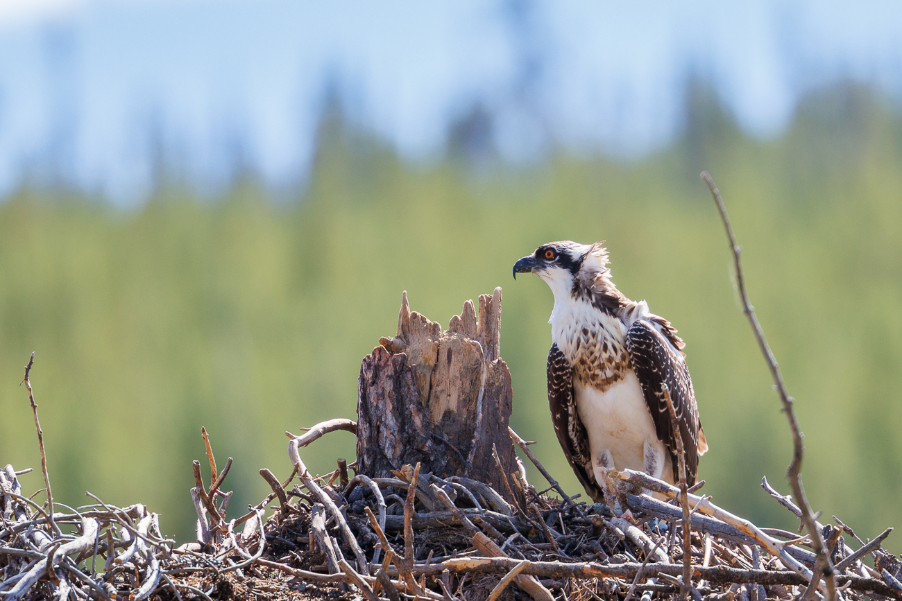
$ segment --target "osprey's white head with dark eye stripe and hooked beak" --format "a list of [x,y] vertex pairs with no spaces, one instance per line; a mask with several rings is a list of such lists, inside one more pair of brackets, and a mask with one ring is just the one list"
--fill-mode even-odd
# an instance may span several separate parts
[[545,280],[555,298],[572,294],[575,284],[592,289],[600,280],[607,281],[608,251],[604,241],[579,244],[572,241],[542,244],[531,255],[523,257],[513,266],[513,277],[518,273],[534,273]]

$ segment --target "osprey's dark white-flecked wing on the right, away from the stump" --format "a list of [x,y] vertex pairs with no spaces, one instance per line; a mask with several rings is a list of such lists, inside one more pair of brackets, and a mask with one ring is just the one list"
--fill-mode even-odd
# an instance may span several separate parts
[[[669,323],[663,319],[660,319],[660,323],[668,333],[671,333]],[[686,483],[692,486],[698,474],[698,433],[702,423],[698,419],[695,391],[683,353],[676,351],[667,338],[645,319],[637,320],[630,326],[630,331],[626,334],[626,348],[632,369],[639,378],[645,401],[649,404],[649,412],[655,423],[658,438],[664,442],[670,453],[676,482],[678,481],[676,439],[661,384],[666,383],[670,390],[670,400],[674,404],[676,422],[679,424],[683,446],[686,449]]]

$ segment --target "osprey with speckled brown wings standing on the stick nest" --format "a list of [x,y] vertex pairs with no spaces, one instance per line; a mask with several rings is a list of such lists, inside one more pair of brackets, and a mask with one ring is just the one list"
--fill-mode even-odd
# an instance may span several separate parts
[[[686,483],[695,484],[708,450],[698,419],[683,341],[645,301],[613,285],[602,242],[549,242],[513,266],[535,273],[555,296],[548,352],[548,404],[570,467],[596,503],[604,469],[637,469],[678,481],[667,385],[686,450]],[[609,499],[609,502],[613,499]]]

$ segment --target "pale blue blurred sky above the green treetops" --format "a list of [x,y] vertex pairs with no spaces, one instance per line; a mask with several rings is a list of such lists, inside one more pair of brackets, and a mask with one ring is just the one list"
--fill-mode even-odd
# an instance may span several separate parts
[[303,182],[329,91],[412,161],[483,107],[503,159],[641,156],[700,77],[759,137],[837,81],[902,99],[902,4],[459,0],[0,3],[0,195],[63,182],[133,203],[155,157],[198,189],[238,162]]

